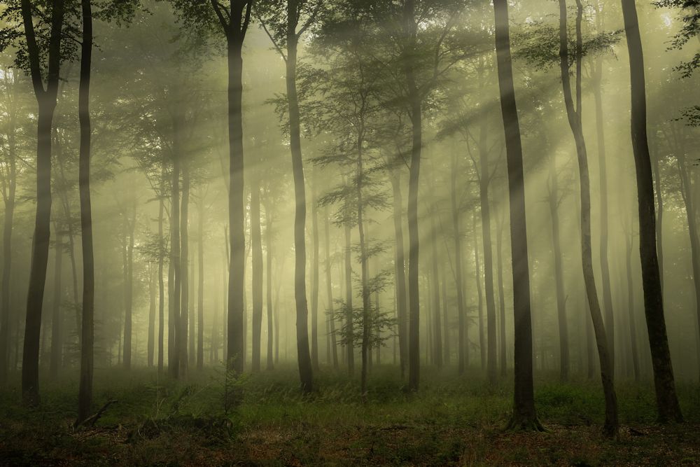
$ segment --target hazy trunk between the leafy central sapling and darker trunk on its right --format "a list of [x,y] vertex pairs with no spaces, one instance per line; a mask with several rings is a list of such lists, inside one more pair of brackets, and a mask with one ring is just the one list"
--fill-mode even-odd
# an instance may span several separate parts
[[396,288],[396,314],[398,318],[398,347],[401,367],[401,378],[405,376],[408,360],[408,320],[406,303],[406,268],[403,241],[403,200],[401,196],[401,180],[398,172],[390,175],[393,193],[393,225],[394,225],[394,284]]

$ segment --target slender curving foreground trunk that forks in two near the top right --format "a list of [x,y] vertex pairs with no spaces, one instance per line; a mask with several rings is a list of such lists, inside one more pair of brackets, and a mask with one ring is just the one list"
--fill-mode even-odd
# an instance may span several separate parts
[[583,137],[583,127],[581,123],[581,67],[582,67],[582,35],[581,21],[583,6],[580,0],[576,1],[576,108],[571,95],[571,85],[569,80],[568,62],[568,33],[566,27],[566,0],[559,0],[559,56],[561,83],[563,87],[564,103],[566,104],[566,115],[568,117],[571,132],[576,141],[576,154],[580,177],[581,190],[581,255],[583,265],[583,278],[586,286],[586,295],[596,333],[596,343],[598,345],[598,359],[601,362],[601,380],[603,382],[603,393],[605,395],[605,425],[603,435],[614,438],[617,436],[617,396],[615,386],[612,383],[613,370],[612,358],[608,349],[609,340],[603,324],[600,302],[598,302],[598,292],[596,291],[596,280],[593,272],[593,257],[591,251],[591,189],[588,169],[588,155],[586,142]]

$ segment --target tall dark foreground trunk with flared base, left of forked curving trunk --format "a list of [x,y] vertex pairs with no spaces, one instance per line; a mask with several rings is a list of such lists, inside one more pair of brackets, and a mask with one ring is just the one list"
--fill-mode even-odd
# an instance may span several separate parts
[[500,109],[505,130],[505,152],[510,193],[510,246],[513,265],[513,314],[515,319],[515,389],[509,428],[542,429],[535,414],[532,372],[532,321],[528,270],[525,184],[520,125],[513,85],[507,0],[493,0],[496,18],[496,59]]

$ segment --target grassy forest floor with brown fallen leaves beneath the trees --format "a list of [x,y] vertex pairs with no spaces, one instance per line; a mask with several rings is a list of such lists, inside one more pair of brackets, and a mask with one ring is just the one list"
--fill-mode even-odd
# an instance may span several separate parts
[[96,370],[95,407],[116,400],[90,428],[74,429],[77,373],[46,382],[25,409],[17,387],[0,392],[0,464],[7,466],[214,465],[700,465],[700,386],[680,384],[686,423],[654,424],[650,382],[619,382],[619,440],[601,438],[599,384],[538,379],[544,433],[503,432],[512,378],[423,369],[403,391],[398,369],[374,368],[369,393],[322,370],[302,397],[293,366],[247,375],[190,370],[173,382],[155,370]]

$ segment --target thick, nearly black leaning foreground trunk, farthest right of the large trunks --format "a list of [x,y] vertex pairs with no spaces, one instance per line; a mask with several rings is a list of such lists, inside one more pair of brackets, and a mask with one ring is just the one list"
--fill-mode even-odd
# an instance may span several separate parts
[[668,349],[664,301],[657,258],[654,218],[654,181],[647,141],[646,89],[644,58],[634,0],[622,0],[622,16],[629,53],[631,81],[631,137],[637,175],[639,203],[639,249],[644,289],[644,312],[652,352],[654,387],[659,421],[681,421],[680,405],[675,393],[671,352]]

